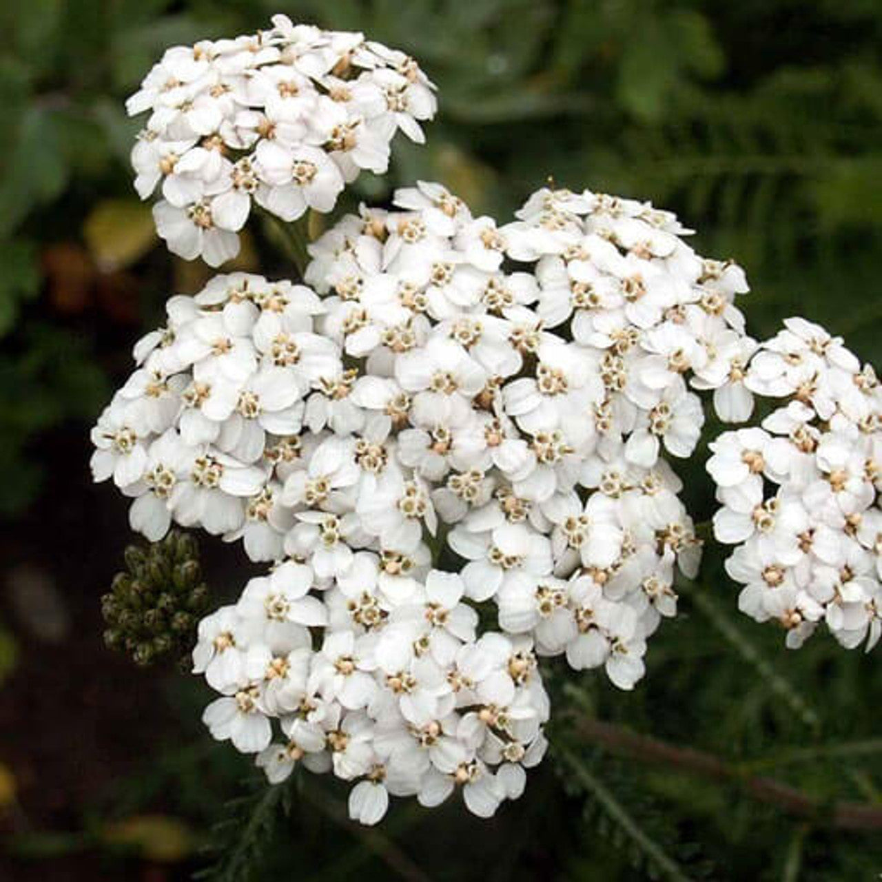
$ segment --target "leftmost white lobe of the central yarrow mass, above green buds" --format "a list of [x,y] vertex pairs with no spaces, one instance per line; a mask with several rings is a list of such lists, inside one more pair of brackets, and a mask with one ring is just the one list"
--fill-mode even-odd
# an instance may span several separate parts
[[294,516],[283,478],[303,417],[340,352],[313,330],[309,288],[235,273],[172,297],[140,340],[131,374],[93,430],[95,480],[132,497],[131,527],[155,542],[172,520],[277,560]]

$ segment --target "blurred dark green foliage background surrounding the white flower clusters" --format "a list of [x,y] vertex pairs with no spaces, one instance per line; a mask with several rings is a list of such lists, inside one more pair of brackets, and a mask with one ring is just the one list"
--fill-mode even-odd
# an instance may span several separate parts
[[[428,145],[397,141],[392,175],[357,197],[437,179],[505,218],[553,176],[652,199],[700,252],[745,265],[755,336],[804,314],[882,364],[878,0],[6,0],[0,878],[878,878],[879,830],[837,806],[882,812],[882,650],[818,634],[787,653],[736,614],[713,555],[633,694],[552,674],[562,749],[490,823],[403,806],[371,833],[346,823],[343,789],[252,793],[248,764],[200,728],[198,684],[102,647],[98,599],[129,537],[123,499],[90,485],[87,429],[168,295],[209,274],[153,234],[123,99],[168,45],[276,11],[406,49],[439,86]],[[288,272],[260,229],[237,265]],[[706,519],[702,457],[683,472]],[[239,557],[206,549],[217,602]],[[727,780],[627,732],[713,753]],[[808,802],[758,798],[755,774]]]

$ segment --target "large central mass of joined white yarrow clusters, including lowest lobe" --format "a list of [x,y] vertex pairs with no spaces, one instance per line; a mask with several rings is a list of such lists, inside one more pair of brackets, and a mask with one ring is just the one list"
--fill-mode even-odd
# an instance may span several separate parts
[[[271,780],[330,760],[369,821],[386,791],[459,783],[478,814],[517,796],[544,749],[537,656],[643,676],[699,565],[665,459],[698,440],[689,388],[750,394],[743,276],[673,216],[542,191],[498,228],[430,183],[395,204],[314,243],[311,288],[234,273],[171,298],[93,431],[132,527],[274,564],[203,623],[213,734]],[[488,603],[505,633],[476,632]]]

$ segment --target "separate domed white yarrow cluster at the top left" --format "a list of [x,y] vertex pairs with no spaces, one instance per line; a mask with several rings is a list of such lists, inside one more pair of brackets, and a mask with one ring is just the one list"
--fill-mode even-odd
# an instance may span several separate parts
[[327,213],[363,169],[385,173],[397,131],[422,143],[437,102],[412,58],[363,34],[273,17],[235,40],[168,49],[126,104],[150,112],[131,153],[169,250],[218,266],[252,203],[282,221]]

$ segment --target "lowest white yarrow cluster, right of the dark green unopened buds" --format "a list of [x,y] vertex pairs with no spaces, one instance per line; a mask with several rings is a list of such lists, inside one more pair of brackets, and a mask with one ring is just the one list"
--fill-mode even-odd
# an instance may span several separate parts
[[520,796],[547,746],[530,641],[477,637],[458,575],[408,577],[403,596],[387,568],[359,551],[337,577],[288,560],[251,579],[199,626],[194,670],[221,692],[203,720],[271,783],[297,764],[352,781],[349,813],[363,824],[389,796],[431,807],[454,789],[488,818]]

